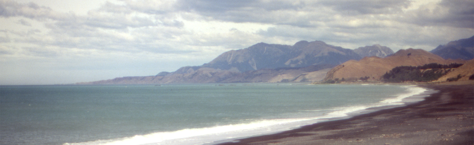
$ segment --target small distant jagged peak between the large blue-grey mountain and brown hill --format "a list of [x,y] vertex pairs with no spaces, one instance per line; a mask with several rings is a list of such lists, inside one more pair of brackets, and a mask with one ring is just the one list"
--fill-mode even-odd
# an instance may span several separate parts
[[386,46],[381,45],[372,45],[372,46],[365,46],[359,47],[354,49],[354,52],[359,54],[361,57],[369,57],[369,56],[377,56],[377,57],[385,57],[387,55],[393,54],[392,49]]

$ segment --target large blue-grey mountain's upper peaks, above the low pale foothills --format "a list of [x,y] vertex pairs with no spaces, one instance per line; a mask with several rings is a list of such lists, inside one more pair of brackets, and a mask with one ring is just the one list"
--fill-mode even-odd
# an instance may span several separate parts
[[328,45],[322,41],[300,41],[292,46],[258,43],[245,49],[220,54],[201,67],[246,72],[317,64],[337,65],[361,58],[351,49]]

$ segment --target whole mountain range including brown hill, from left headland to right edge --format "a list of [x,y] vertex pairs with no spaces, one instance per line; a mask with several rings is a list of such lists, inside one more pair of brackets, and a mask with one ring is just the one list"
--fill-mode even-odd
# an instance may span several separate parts
[[[472,45],[469,47],[461,39],[438,46],[436,52],[444,54],[442,52],[452,52],[444,49],[454,48],[469,51]],[[184,66],[171,73],[76,84],[317,82],[343,77],[370,77],[371,81],[378,81],[383,73],[395,66],[452,62],[466,61],[445,60],[427,51],[411,48],[394,54],[392,49],[381,45],[352,50],[322,41],[299,41],[294,45],[258,43],[245,49],[224,52],[201,66]]]

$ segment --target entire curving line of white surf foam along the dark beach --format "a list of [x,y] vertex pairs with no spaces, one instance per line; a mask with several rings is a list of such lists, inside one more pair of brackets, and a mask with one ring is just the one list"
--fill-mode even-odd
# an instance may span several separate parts
[[[333,112],[329,112],[323,116],[312,117],[312,118],[290,118],[290,119],[271,119],[271,120],[258,120],[250,123],[242,123],[242,124],[235,124],[235,125],[225,125],[225,126],[216,126],[216,127],[206,127],[206,128],[192,128],[192,129],[182,129],[178,131],[172,132],[157,132],[147,135],[137,135],[133,137],[124,137],[124,138],[116,138],[116,139],[109,139],[109,140],[97,140],[92,142],[84,142],[84,143],[66,143],[64,145],[182,145],[183,142],[190,142],[193,145],[201,145],[205,143],[209,143],[212,141],[234,138],[234,137],[243,137],[243,136],[252,136],[251,133],[243,133],[243,132],[253,132],[254,135],[264,134],[264,133],[271,133],[277,131],[283,131],[281,129],[288,130],[292,127],[301,126],[301,124],[294,124],[298,126],[288,126],[281,127],[285,124],[305,121],[309,124],[315,123],[315,119],[324,119],[324,118],[337,118],[337,117],[345,117],[348,114],[365,110],[371,107],[380,107],[380,106],[387,106],[387,105],[400,105],[404,102],[403,99],[408,98],[410,96],[422,94],[425,91],[428,91],[422,87],[416,86],[402,86],[406,87],[408,92],[399,94],[395,98],[389,98],[382,100],[375,104],[367,104],[365,106],[351,106],[351,107],[343,107],[343,108],[335,108],[335,109],[325,109],[325,110],[336,110]],[[300,110],[300,111],[320,111],[320,110]],[[313,120],[313,121],[311,121]],[[280,127],[279,129],[275,129],[275,127]],[[262,130],[265,130],[262,132]],[[225,135],[223,135],[225,134]],[[240,136],[238,136],[239,134]],[[214,136],[220,135],[220,138],[216,138]],[[209,137],[212,136],[213,139]],[[199,138],[199,139],[198,139]]]

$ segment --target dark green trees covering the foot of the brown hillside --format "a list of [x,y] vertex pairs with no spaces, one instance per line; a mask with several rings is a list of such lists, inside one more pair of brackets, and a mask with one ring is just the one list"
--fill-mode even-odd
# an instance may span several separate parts
[[430,82],[438,80],[441,76],[452,71],[453,68],[458,68],[463,64],[451,63],[443,65],[438,63],[429,63],[423,66],[397,66],[390,72],[382,76],[383,82]]

